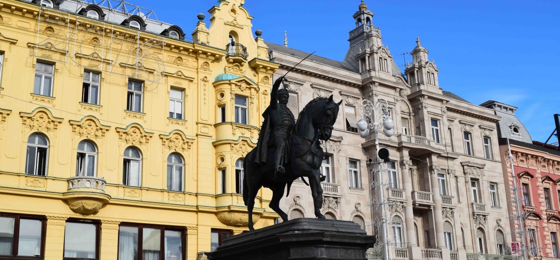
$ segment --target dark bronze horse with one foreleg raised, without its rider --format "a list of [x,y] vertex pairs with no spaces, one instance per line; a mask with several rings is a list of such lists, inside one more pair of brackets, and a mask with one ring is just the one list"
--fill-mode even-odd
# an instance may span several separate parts
[[[303,177],[309,179],[315,216],[319,219],[325,218],[321,214],[323,188],[321,187],[319,168],[323,161],[323,149],[320,146],[320,140],[329,140],[334,122],[337,120],[340,103],[342,101],[334,102],[332,95],[330,97],[318,97],[307,103],[300,112],[295,129],[292,132],[290,138],[290,160],[285,165],[286,172],[281,174],[281,176],[274,178],[276,169],[273,169],[271,164],[259,164],[251,159],[254,156],[255,149],[247,154],[244,160],[243,200],[249,211],[249,230],[254,230],[253,207],[255,205],[256,193],[259,189],[266,187],[272,190],[272,200],[270,200],[269,206],[280,215],[283,221],[287,221],[288,215],[279,207],[280,199],[284,195],[286,185],[288,185],[288,195],[290,194],[292,182],[300,177],[302,179]],[[269,162],[273,161],[273,156],[274,149],[269,149]]]

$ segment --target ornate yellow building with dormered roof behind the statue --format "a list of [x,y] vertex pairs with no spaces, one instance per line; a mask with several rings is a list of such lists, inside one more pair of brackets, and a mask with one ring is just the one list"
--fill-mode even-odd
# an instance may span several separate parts
[[193,41],[143,8],[0,3],[0,258],[196,259],[246,230],[239,159],[278,64],[243,2]]

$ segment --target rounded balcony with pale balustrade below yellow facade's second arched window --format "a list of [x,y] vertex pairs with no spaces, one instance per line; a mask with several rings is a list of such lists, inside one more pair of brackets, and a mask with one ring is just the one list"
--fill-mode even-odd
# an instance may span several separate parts
[[111,199],[105,193],[105,183],[104,178],[90,176],[68,178],[68,191],[64,192],[63,198],[74,212],[82,215],[95,214]]

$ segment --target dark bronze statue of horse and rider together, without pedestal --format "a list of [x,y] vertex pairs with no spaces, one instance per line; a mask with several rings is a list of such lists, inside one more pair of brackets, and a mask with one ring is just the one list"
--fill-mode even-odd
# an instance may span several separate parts
[[[297,65],[297,64],[296,64]],[[333,96],[318,97],[311,100],[298,116],[297,123],[288,103],[286,84],[279,89],[284,77],[278,78],[270,92],[270,105],[263,113],[264,122],[259,133],[256,147],[245,157],[243,178],[243,200],[249,211],[249,229],[253,228],[253,207],[256,193],[261,187],[272,190],[270,208],[280,215],[283,221],[288,215],[279,207],[284,188],[297,178],[307,177],[315,207],[315,216],[324,219],[323,188],[319,168],[323,161],[321,141],[328,141],[337,120],[342,101],[336,103]],[[307,182],[306,182],[307,184]],[[286,196],[287,196],[286,195]]]

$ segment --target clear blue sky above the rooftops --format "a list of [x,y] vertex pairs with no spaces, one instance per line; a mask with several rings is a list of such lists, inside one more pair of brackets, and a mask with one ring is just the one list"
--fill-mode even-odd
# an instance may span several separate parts
[[[128,0],[152,9],[160,21],[194,30],[198,13],[216,0]],[[545,141],[560,113],[560,1],[372,1],[383,43],[396,64],[410,61],[420,37],[440,69],[440,87],[480,104],[496,100],[516,106],[533,140]],[[342,60],[358,0],[246,0],[253,31],[266,41]],[[403,69],[403,67],[401,67]],[[556,140],[553,140],[556,141]]]

